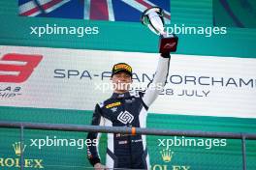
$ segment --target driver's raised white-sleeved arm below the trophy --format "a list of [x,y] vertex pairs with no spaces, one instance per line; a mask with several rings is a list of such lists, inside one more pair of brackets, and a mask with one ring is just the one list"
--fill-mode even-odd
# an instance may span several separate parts
[[159,56],[157,69],[153,80],[147,85],[144,93],[144,104],[149,107],[151,103],[158,97],[162,88],[164,88],[169,72],[171,56],[169,53]]

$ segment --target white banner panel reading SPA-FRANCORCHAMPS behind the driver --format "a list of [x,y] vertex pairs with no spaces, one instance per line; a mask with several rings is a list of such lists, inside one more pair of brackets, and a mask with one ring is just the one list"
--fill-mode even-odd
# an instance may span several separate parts
[[[0,47],[0,105],[93,110],[112,94],[112,65],[133,67],[133,91],[152,80],[159,54]],[[167,84],[149,112],[256,118],[256,60],[172,55]]]

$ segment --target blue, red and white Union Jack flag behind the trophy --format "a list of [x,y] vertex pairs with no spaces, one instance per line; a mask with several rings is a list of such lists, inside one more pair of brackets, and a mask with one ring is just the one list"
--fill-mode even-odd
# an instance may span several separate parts
[[170,23],[170,0],[18,0],[18,14],[138,22],[144,10],[155,6]]

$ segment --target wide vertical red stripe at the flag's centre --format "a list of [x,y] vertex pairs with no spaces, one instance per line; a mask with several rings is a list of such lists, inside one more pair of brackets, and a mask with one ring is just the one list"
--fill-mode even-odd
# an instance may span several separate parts
[[107,0],[91,0],[90,19],[109,20]]

